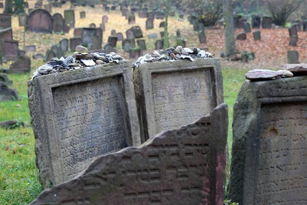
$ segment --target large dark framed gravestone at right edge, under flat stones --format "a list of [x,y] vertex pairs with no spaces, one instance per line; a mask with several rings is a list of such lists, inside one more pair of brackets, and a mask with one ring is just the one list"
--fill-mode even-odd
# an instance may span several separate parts
[[307,76],[243,84],[233,109],[229,199],[305,204]]

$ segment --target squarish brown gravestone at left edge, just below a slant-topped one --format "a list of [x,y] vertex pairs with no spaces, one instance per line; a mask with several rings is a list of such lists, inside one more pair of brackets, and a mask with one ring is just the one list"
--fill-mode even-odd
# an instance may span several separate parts
[[4,61],[16,61],[19,57],[19,42],[14,40],[1,40],[1,55]]

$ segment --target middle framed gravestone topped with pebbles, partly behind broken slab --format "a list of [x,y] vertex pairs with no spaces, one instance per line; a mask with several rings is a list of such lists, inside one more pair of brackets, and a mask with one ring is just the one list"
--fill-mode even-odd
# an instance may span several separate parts
[[134,69],[134,88],[142,142],[223,103],[221,65],[215,58],[141,64]]

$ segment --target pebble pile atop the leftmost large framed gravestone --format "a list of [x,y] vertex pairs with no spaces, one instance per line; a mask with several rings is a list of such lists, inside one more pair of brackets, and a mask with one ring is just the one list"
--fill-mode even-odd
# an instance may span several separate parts
[[61,57],[60,59],[53,58],[51,60],[51,62],[40,66],[33,74],[32,79],[41,75],[59,73],[67,70],[76,70],[79,68],[91,67],[99,64],[106,64],[111,62],[118,63],[124,59],[114,52],[110,54],[99,52],[87,53],[87,49],[85,47],[78,45],[76,47],[75,55],[68,56],[67,58]]

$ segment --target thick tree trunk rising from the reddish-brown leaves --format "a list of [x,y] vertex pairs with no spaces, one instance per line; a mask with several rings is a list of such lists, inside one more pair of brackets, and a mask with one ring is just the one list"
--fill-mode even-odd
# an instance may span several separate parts
[[223,0],[224,22],[225,22],[225,55],[236,54],[234,26],[232,15],[232,0]]

